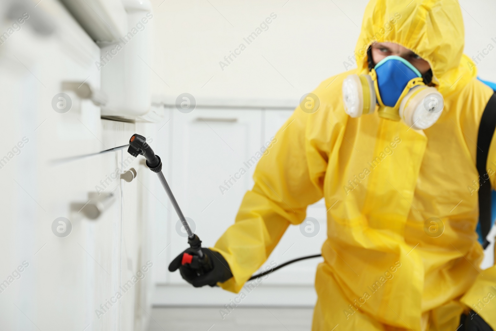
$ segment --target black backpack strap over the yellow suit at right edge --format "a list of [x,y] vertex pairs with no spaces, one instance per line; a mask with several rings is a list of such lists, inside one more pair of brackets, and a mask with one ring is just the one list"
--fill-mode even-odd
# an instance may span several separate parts
[[496,94],[489,99],[484,113],[482,114],[477,136],[477,158],[476,165],[479,172],[479,223],[481,226],[483,247],[489,245],[486,237],[491,230],[491,182],[489,181],[486,164],[488,161],[489,147],[496,129]]

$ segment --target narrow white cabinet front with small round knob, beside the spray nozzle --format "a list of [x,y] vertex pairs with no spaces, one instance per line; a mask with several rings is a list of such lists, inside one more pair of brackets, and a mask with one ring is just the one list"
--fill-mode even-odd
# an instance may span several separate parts
[[[143,133],[143,131],[140,131]],[[147,139],[148,140],[148,139]],[[121,289],[126,290],[121,299],[122,331],[144,331],[151,315],[152,273],[157,261],[152,254],[152,234],[155,215],[149,212],[150,203],[156,203],[148,193],[157,176],[135,159],[126,149],[119,152],[118,168],[123,172],[134,168],[136,177],[131,182],[121,180],[122,240],[121,240]],[[127,289],[129,287],[129,289]],[[123,289],[124,288],[124,289]]]

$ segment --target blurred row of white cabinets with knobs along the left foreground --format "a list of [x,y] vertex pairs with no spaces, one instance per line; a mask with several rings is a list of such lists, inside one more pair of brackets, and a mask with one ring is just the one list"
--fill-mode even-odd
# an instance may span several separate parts
[[[30,19],[40,13],[53,23],[51,34],[39,34],[28,20],[0,48],[0,248],[7,252],[0,265],[1,329],[145,330],[153,269],[145,277],[138,270],[151,260],[144,238],[152,230],[137,180],[148,185],[148,178],[139,169],[132,182],[120,180],[116,169],[123,170],[126,149],[103,151],[146,126],[102,120],[100,107],[62,88],[64,82],[99,88],[100,49],[60,2],[40,2]],[[52,107],[61,92],[72,102],[66,113]],[[140,167],[140,159],[131,161],[124,170]],[[114,201],[89,219],[85,211],[95,199],[88,194],[101,190]],[[77,203],[87,204],[76,210]],[[53,232],[59,217],[70,220],[66,237]],[[143,279],[122,293],[133,275]],[[110,304],[116,292],[122,298]]]

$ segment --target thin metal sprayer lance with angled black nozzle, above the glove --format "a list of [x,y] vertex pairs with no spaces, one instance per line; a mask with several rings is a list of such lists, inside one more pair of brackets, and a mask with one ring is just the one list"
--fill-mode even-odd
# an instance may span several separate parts
[[150,168],[151,171],[157,173],[160,183],[162,183],[167,196],[169,196],[169,199],[171,200],[171,203],[174,206],[174,209],[176,210],[181,223],[183,223],[183,226],[186,228],[189,246],[191,246],[191,248],[195,249],[198,252],[198,257],[200,259],[203,258],[203,252],[201,251],[201,240],[191,231],[191,228],[186,221],[183,211],[181,211],[181,208],[179,207],[178,201],[174,197],[169,184],[167,184],[164,174],[162,174],[162,161],[160,160],[160,157],[158,155],[155,155],[153,149],[146,142],[146,138],[139,134],[133,134],[131,136],[131,138],[129,139],[129,148],[127,149],[127,152],[134,157],[143,155],[146,158],[146,166]]

